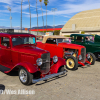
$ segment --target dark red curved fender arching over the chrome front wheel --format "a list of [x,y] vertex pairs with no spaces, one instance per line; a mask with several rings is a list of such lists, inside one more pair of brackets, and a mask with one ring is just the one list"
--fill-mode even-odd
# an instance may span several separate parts
[[21,63],[16,64],[11,70],[5,71],[5,73],[9,73],[12,70],[14,70],[15,68],[19,69],[21,66],[24,67],[29,73],[35,73],[35,72],[39,71],[36,66],[34,66],[28,62],[21,62]]

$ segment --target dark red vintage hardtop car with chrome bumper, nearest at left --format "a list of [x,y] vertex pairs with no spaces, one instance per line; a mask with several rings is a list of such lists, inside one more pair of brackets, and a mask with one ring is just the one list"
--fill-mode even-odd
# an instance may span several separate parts
[[36,37],[25,33],[0,33],[0,71],[19,72],[22,84],[29,85],[65,74],[65,61],[36,46]]

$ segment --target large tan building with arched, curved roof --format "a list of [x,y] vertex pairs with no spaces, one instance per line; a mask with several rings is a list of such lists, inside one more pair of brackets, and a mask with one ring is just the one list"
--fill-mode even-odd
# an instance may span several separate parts
[[81,33],[100,34],[100,9],[82,11],[74,15],[61,29],[60,35]]

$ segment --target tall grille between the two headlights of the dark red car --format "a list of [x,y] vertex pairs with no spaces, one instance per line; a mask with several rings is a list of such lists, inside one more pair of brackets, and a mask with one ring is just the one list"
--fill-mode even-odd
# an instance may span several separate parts
[[41,55],[43,64],[40,67],[40,71],[43,74],[47,74],[50,71],[50,53],[45,53]]

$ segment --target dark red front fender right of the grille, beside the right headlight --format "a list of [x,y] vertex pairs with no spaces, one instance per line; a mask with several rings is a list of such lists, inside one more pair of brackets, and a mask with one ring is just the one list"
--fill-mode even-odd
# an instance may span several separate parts
[[[53,61],[52,61],[53,63]],[[63,66],[63,65],[66,65],[66,62],[63,58],[60,58],[58,57],[58,62],[56,64],[53,64],[50,68],[50,73],[53,74],[53,73],[57,73],[58,72],[58,69]]]

